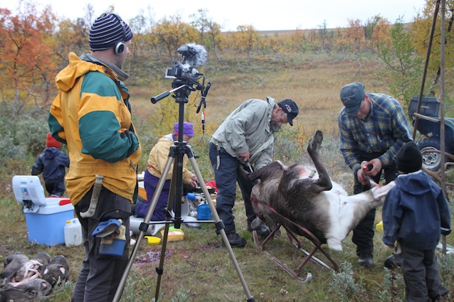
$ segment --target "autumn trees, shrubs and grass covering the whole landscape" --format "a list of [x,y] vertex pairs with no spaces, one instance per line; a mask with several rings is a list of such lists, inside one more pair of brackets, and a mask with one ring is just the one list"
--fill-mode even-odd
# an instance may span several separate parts
[[[418,68],[421,68],[421,60],[426,54],[424,43],[431,24],[432,2],[434,1],[428,1],[428,11],[418,16],[413,26],[396,23],[394,28],[386,20],[371,18],[365,24],[352,21],[352,27],[347,29],[320,28],[282,34],[261,33],[257,36],[253,28],[246,26],[238,28],[237,33],[221,34],[218,25],[206,14],[195,16],[201,23],[192,24],[195,32],[187,32],[198,33],[195,41],[206,45],[210,53],[208,64],[198,67],[198,70],[206,75],[206,81],[211,82],[212,87],[206,98],[205,131],[202,131],[200,115],[196,114],[201,97],[198,91],[189,96],[184,119],[195,126],[196,136],[191,144],[194,153],[200,156],[196,161],[204,178],[213,179],[207,152],[208,141],[233,109],[250,98],[291,98],[300,107],[300,114],[295,119],[294,126],[286,125],[278,134],[275,159],[284,163],[309,163],[307,141],[314,131],[320,129],[324,133],[321,156],[325,166],[332,178],[351,193],[352,172],[345,166],[339,153],[337,114],[342,108],[339,91],[348,82],[363,82],[368,92],[390,95],[395,92],[406,110],[409,101],[407,97],[419,93],[418,85],[422,75]],[[84,34],[88,31],[88,21],[82,18],[77,21],[57,21],[50,11],[47,13],[49,14],[43,15],[49,17],[46,20],[48,23],[38,18],[41,14],[36,10],[23,11],[21,19],[0,11],[0,15],[4,17],[0,23],[0,40],[5,46],[0,49],[0,260],[14,252],[23,252],[29,257],[41,251],[52,256],[63,254],[70,262],[71,281],[56,288],[48,297],[48,301],[60,302],[70,300],[83,259],[83,247],[46,247],[28,242],[25,217],[11,188],[11,178],[29,174],[36,156],[44,147],[48,132],[48,109],[57,93],[53,77],[65,66],[68,51],[87,51]],[[36,31],[35,27],[28,32],[30,28],[19,26],[24,24],[21,23],[24,20],[33,21],[27,24],[39,25],[43,29]],[[11,26],[13,21],[16,27]],[[136,23],[131,24],[134,26]],[[60,29],[58,32],[55,31],[57,25]],[[9,36],[11,28],[21,29],[17,36]],[[130,100],[134,124],[142,142],[140,171],[146,166],[149,150],[160,136],[169,132],[178,117],[178,105],[171,97],[162,99],[157,104],[152,104],[149,99],[171,90],[171,80],[164,78],[164,71],[171,67],[172,60],[180,60],[174,50],[181,44],[193,41],[183,38],[177,40],[175,45],[164,48],[165,44],[163,41],[159,43],[157,34],[162,33],[161,38],[165,39],[169,37],[166,33],[175,36],[182,32],[181,28],[188,29],[187,24],[181,24],[178,18],[135,28],[137,35],[134,35],[134,49],[127,58],[124,69],[131,75],[126,84],[132,95]],[[217,48],[213,40],[201,35],[201,28],[211,28],[210,31],[221,35],[215,35],[221,38],[216,40],[219,43],[216,44]],[[390,28],[393,29],[392,36]],[[6,38],[22,37],[20,33],[26,32],[33,34],[24,35],[23,38],[31,40],[22,45],[14,44]],[[235,36],[236,34],[243,36]],[[230,37],[238,43],[247,41],[248,34],[255,41],[252,46],[246,43],[238,45],[229,40]],[[409,40],[413,44],[408,44]],[[452,47],[451,44],[448,36],[447,46]],[[12,51],[14,45],[20,46],[23,51]],[[41,53],[35,53],[34,50],[40,50]],[[452,54],[450,48],[447,51]],[[435,50],[431,58],[437,60],[438,53],[439,50]],[[447,57],[454,58],[453,55]],[[14,62],[19,65],[14,66]],[[450,61],[448,64],[445,76],[445,114],[453,116],[450,102],[454,95],[453,65]],[[391,72],[390,69],[396,66],[402,68],[395,68]],[[431,65],[429,75],[432,85],[427,89],[434,91],[435,95],[440,90],[438,66]],[[391,296],[393,301],[402,300],[401,271],[396,269],[393,273],[396,275],[394,286],[397,284],[397,290],[392,292],[391,272],[386,271],[382,265],[391,250],[382,244],[381,232],[376,232],[374,238],[374,267],[371,270],[357,266],[354,244],[347,237],[342,252],[330,252],[341,268],[339,274],[333,274],[310,262],[301,275],[311,272],[313,279],[307,284],[301,284],[255,247],[251,234],[246,231],[246,215],[239,190],[237,201],[238,205],[234,208],[237,230],[248,240],[248,244],[244,249],[234,249],[234,253],[256,301],[369,302],[391,301]],[[380,221],[380,215],[381,211],[378,210],[376,222]],[[167,246],[160,301],[245,301],[246,295],[238,275],[226,249],[221,246],[220,237],[214,232],[214,226],[203,225],[200,230],[183,226],[183,230],[184,240],[169,242]],[[285,232],[283,233],[269,248],[293,268],[301,263],[302,254],[287,242]],[[447,240],[454,245],[452,238],[453,235],[450,235]],[[312,247],[311,242],[302,240],[307,244],[307,249]],[[122,301],[152,300],[159,253],[160,246],[142,241]],[[323,260],[320,254],[317,257]],[[452,254],[440,255],[439,263],[445,286],[454,288]]]

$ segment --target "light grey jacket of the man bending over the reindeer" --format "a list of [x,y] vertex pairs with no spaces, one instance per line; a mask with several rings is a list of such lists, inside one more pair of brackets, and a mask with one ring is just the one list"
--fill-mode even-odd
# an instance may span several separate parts
[[[261,168],[273,161],[274,136],[280,126],[270,124],[275,100],[248,99],[235,109],[211,137],[213,144],[231,156],[249,151],[249,162]],[[241,160],[241,159],[240,159]]]

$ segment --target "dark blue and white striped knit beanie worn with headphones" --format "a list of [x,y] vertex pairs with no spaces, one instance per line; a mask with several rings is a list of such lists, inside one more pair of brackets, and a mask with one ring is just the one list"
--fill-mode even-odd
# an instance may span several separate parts
[[[125,29],[123,33],[123,28]],[[118,42],[132,39],[130,26],[115,14],[105,14],[97,17],[90,28],[90,50],[105,50]]]

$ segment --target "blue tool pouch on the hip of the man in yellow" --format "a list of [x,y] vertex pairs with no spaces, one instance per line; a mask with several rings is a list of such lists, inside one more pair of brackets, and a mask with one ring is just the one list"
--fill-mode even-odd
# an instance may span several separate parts
[[100,222],[92,236],[101,238],[99,254],[107,256],[122,256],[126,244],[126,227],[121,219],[111,218]]

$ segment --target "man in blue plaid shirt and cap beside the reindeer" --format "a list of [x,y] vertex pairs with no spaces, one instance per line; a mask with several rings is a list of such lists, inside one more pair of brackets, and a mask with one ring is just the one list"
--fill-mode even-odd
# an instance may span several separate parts
[[[366,93],[364,85],[354,82],[342,87],[344,107],[339,112],[340,151],[347,166],[354,171],[353,193],[369,190],[366,176],[379,183],[384,171],[386,183],[394,180],[396,154],[412,141],[401,104],[389,95]],[[361,163],[366,168],[361,168]],[[358,264],[370,268],[374,256],[375,209],[353,230]]]

